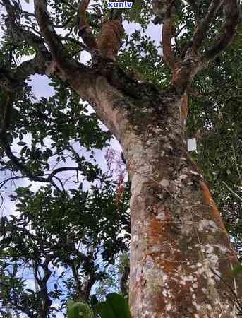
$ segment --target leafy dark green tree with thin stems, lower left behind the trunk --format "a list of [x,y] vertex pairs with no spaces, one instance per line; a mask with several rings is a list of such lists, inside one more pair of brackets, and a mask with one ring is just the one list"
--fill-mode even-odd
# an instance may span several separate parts
[[[117,213],[116,186],[107,180],[69,198],[50,188],[19,188],[13,199],[19,214],[2,218],[0,228],[3,308],[56,317],[68,298],[89,302],[92,286],[107,279],[109,264],[128,248],[128,235],[119,237],[129,228],[128,201]],[[33,278],[37,288],[29,287]]]

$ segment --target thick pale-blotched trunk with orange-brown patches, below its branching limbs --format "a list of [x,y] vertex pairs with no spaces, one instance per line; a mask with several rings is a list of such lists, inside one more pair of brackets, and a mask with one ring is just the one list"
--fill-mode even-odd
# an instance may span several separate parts
[[[83,95],[83,85],[73,87]],[[133,318],[236,317],[238,261],[186,151],[181,96],[147,88],[137,100],[102,77],[86,93],[119,139],[131,178]]]

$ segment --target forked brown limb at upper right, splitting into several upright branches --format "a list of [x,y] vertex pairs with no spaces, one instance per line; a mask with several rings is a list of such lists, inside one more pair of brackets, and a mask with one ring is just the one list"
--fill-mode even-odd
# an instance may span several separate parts
[[[167,66],[173,71],[172,83],[182,92],[188,88],[193,77],[198,71],[207,67],[210,61],[222,52],[236,33],[236,25],[239,23],[239,6],[237,0],[211,0],[207,13],[198,21],[197,27],[190,42],[185,45],[186,50],[181,59],[174,58],[171,46],[171,38],[174,26],[172,15],[174,14],[174,1],[153,0],[152,5],[159,20],[164,23],[162,30],[163,58]],[[195,17],[201,16],[201,12],[195,1],[188,1],[190,8],[195,11]],[[214,44],[205,48],[205,53],[200,54],[202,42],[207,38],[207,31],[216,21],[219,11],[223,8],[224,17],[221,31],[215,37]]]

